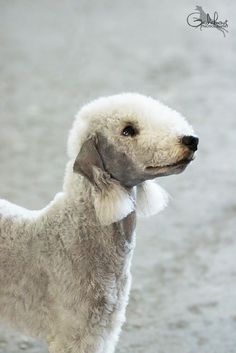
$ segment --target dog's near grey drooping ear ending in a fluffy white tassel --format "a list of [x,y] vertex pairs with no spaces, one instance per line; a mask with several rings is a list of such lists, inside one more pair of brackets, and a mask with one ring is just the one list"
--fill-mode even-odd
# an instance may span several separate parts
[[117,222],[134,210],[131,194],[105,170],[96,136],[83,143],[73,170],[93,185],[94,208],[102,225]]

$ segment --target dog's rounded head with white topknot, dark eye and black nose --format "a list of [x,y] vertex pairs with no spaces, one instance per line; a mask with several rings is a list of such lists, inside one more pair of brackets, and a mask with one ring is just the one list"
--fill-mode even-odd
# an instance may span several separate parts
[[83,107],[68,150],[74,172],[86,177],[97,194],[109,186],[112,197],[111,190],[129,194],[134,186],[147,195],[151,184],[146,181],[182,172],[197,145],[198,138],[179,113],[150,97],[127,93]]

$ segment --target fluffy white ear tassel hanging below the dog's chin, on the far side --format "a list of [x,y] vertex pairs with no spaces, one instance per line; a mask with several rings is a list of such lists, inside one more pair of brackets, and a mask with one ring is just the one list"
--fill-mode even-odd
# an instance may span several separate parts
[[146,180],[137,186],[137,213],[148,217],[162,211],[168,204],[169,195],[155,181]]

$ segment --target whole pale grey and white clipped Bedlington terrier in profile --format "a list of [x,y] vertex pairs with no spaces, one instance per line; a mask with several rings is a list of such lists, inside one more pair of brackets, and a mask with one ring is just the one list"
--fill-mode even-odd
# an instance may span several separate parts
[[0,200],[0,317],[50,353],[112,353],[125,320],[136,211],[167,203],[151,179],[182,172],[198,139],[139,94],[84,106],[69,135],[63,192],[40,211]]

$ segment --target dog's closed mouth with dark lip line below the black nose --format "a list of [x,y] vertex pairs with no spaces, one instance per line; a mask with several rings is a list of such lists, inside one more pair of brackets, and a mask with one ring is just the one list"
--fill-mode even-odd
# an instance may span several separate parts
[[179,161],[171,164],[165,164],[165,165],[156,165],[156,166],[148,166],[145,168],[145,170],[151,174],[174,174],[181,172],[183,169],[186,168],[186,166],[192,162],[194,157],[192,156],[191,158],[182,158]]

